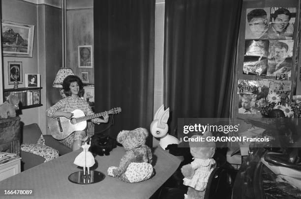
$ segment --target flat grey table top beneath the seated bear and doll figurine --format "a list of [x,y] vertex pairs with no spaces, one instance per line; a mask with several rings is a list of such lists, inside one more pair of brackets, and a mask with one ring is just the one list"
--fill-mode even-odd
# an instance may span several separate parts
[[[95,165],[90,168],[103,172],[105,179],[99,183],[81,185],[68,180],[68,176],[82,168],[73,164],[82,150],[67,153],[52,161],[43,163],[24,172],[0,181],[1,189],[33,189],[33,196],[18,198],[84,198],[84,199],[149,199],[152,194],[177,170],[181,161],[162,148],[153,150],[153,168],[156,174],[149,180],[126,183],[107,175],[110,166],[119,166],[124,155],[123,147],[117,146],[109,156],[96,156]],[[0,198],[3,195],[0,196]],[[11,198],[11,197],[7,197]]]

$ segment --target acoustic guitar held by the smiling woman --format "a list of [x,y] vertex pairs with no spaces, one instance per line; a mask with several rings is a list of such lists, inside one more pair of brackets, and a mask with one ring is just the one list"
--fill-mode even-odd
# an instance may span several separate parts
[[90,114],[85,115],[82,110],[76,109],[72,111],[72,118],[75,118],[75,123],[72,124],[70,119],[66,117],[55,117],[49,118],[48,120],[48,129],[51,132],[52,137],[57,140],[62,140],[67,138],[74,131],[82,131],[87,127],[87,120],[94,119],[96,117],[103,116],[105,113],[107,114],[119,114],[121,112],[121,108],[114,108],[110,111],[102,112],[99,114]]

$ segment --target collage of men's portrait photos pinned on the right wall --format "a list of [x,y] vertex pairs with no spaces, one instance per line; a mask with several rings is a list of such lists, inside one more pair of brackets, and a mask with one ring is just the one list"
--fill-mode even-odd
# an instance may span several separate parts
[[296,7],[246,9],[242,74],[258,80],[239,80],[239,114],[256,114],[249,107],[270,92],[290,94],[295,19]]

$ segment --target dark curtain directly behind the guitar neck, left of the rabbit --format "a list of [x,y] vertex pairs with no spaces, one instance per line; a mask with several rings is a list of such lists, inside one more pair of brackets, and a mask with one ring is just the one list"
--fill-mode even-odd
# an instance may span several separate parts
[[154,9],[154,0],[94,0],[95,113],[121,107],[113,138],[153,119]]

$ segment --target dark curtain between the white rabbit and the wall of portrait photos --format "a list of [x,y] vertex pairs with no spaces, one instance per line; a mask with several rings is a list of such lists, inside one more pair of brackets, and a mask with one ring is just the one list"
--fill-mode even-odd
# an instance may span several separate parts
[[165,0],[164,100],[181,117],[229,117],[242,0]]

